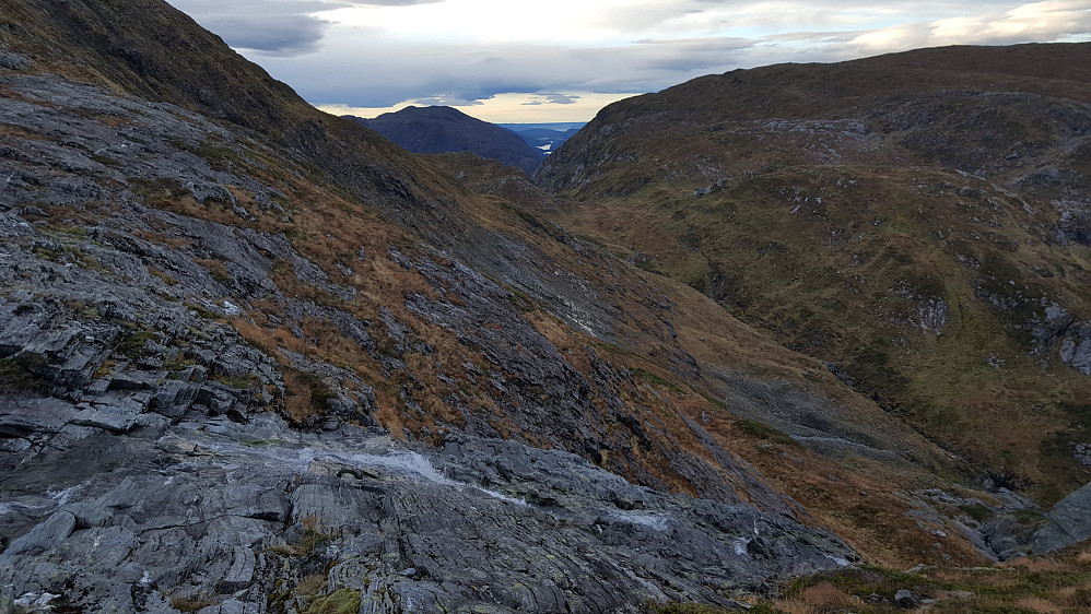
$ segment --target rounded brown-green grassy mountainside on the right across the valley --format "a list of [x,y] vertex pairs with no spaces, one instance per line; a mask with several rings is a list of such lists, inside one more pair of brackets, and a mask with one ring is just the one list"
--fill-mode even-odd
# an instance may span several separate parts
[[535,179],[578,201],[560,223],[1056,500],[1091,480],[1089,60],[954,47],[705,76],[607,107]]

